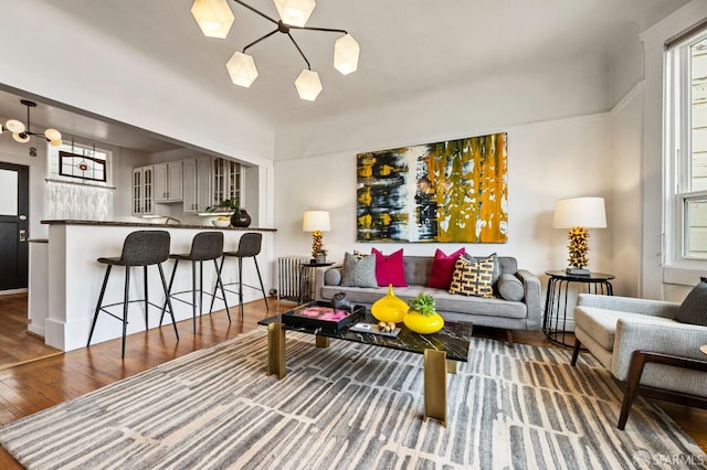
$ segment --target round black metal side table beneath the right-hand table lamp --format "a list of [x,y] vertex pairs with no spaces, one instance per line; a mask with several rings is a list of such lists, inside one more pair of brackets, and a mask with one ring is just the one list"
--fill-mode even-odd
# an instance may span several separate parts
[[[548,279],[548,291],[545,299],[545,319],[542,320],[542,331],[545,335],[555,344],[572,348],[568,344],[566,335],[572,334],[567,331],[567,300],[568,288],[572,282],[585,284],[587,292],[613,296],[613,287],[610,280],[615,276],[603,273],[591,273],[589,275],[569,275],[566,271],[546,271],[550,276]],[[573,335],[573,334],[572,334]]]

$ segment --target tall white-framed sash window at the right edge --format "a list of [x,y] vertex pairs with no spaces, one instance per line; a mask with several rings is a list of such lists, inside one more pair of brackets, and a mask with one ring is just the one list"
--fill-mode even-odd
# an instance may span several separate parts
[[707,30],[669,45],[666,63],[668,252],[689,265],[707,260]]

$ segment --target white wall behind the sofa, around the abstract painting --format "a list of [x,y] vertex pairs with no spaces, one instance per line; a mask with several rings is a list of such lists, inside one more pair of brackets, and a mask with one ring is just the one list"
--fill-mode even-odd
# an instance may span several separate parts
[[[509,242],[467,249],[516,256],[537,274],[566,267],[566,231],[552,228],[556,200],[603,196],[612,221],[611,117],[597,114],[609,105],[606,76],[602,61],[588,60],[541,76],[495,77],[278,131],[275,254],[308,254],[310,235],[302,232],[302,214],[309,209],[331,212],[333,231],[324,235],[330,259],[380,247],[355,239],[357,152],[507,131]],[[401,246],[407,254],[432,255],[436,247],[449,253],[460,245],[388,244],[382,249]],[[611,231],[592,231],[590,246],[590,268],[612,273]]]

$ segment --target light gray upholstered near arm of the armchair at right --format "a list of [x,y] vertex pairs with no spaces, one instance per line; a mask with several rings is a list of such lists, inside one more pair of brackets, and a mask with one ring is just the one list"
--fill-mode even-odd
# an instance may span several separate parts
[[612,373],[620,381],[625,381],[634,351],[704,361],[705,354],[699,351],[699,348],[705,344],[707,344],[707,327],[651,318],[645,320],[620,318],[616,321]]

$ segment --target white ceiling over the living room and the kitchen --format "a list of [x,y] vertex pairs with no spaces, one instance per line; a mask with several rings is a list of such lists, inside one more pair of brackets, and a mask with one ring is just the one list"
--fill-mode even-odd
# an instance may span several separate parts
[[[277,18],[272,1],[245,1]],[[307,25],[347,30],[360,43],[361,55],[358,72],[342,76],[333,66],[338,34],[293,31],[312,70],[321,77],[324,90],[314,103],[297,96],[294,79],[305,63],[282,34],[249,50],[260,71],[251,88],[233,85],[225,62],[274,25],[229,2],[235,15],[229,38],[204,38],[191,17],[191,3],[62,0],[62,8],[87,28],[117,39],[277,129],[483,76],[539,70],[580,55],[610,57],[614,47],[635,43],[639,32],[687,0],[319,0]],[[9,92],[0,92],[0,116],[25,120],[20,96]],[[150,152],[176,147],[139,129],[39,103],[32,109],[33,127],[62,122],[56,126],[62,132]]]

